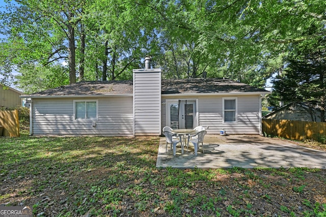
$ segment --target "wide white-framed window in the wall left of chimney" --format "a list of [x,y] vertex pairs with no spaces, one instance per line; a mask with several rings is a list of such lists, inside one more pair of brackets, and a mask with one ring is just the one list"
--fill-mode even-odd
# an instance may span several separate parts
[[91,100],[74,100],[75,119],[95,119],[97,118],[98,102]]

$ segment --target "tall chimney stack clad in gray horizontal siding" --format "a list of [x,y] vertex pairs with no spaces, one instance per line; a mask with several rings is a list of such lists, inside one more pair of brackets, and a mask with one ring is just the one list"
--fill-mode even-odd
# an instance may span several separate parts
[[133,70],[134,134],[159,135],[161,70]]

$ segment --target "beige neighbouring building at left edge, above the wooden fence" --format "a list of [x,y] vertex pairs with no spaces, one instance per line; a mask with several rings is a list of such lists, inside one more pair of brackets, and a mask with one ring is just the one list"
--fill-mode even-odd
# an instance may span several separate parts
[[22,105],[20,96],[23,92],[11,88],[9,86],[0,84],[0,107],[15,108]]

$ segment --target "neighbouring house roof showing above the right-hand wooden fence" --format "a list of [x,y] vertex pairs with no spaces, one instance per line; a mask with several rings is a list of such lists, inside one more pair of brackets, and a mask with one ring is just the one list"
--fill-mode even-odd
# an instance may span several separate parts
[[290,103],[263,116],[263,118],[266,119],[285,119],[316,122],[321,121],[320,117],[320,108],[311,107],[306,103]]

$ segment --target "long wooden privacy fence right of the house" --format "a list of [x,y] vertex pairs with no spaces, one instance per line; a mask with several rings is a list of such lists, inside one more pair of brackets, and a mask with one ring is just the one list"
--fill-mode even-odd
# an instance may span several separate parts
[[293,140],[316,139],[326,135],[326,122],[262,119],[262,132]]

